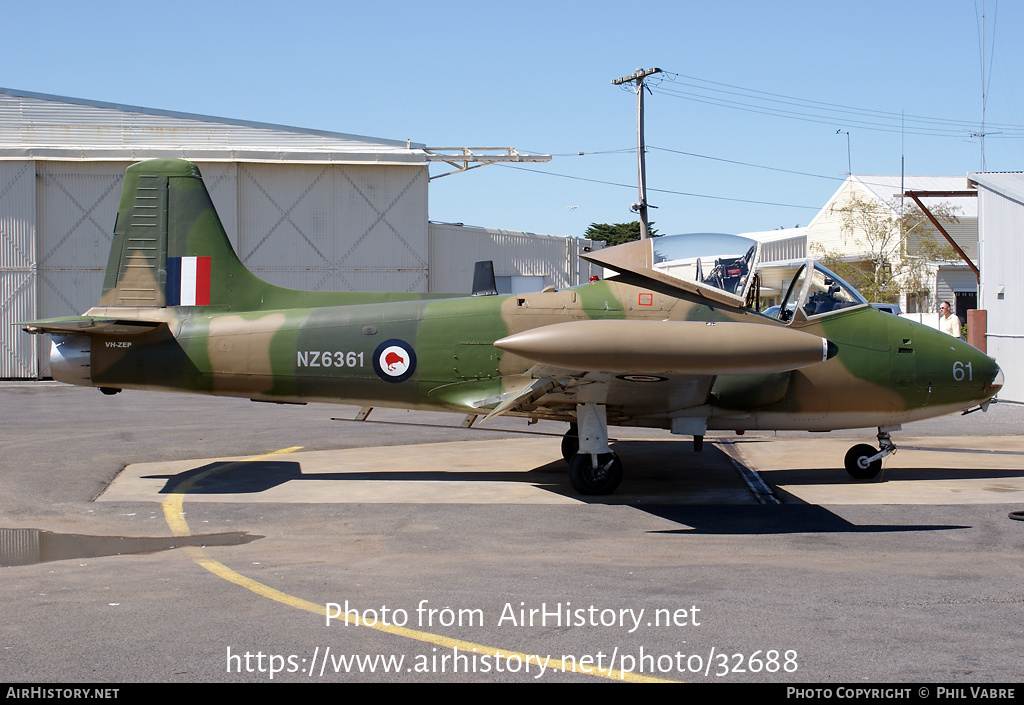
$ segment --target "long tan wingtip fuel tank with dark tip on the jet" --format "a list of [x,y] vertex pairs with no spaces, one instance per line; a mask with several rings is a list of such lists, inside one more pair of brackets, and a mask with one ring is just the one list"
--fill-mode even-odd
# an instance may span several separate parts
[[756,323],[571,321],[523,331],[495,347],[568,370],[743,375],[796,370],[838,350],[817,335]]

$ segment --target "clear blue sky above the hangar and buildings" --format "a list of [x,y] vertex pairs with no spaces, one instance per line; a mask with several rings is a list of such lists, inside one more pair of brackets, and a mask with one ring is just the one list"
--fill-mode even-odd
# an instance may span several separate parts
[[[651,219],[663,233],[738,233],[807,224],[847,171],[845,132],[854,173],[899,173],[901,154],[908,174],[979,170],[981,10],[981,0],[4,2],[0,85],[556,155],[436,179],[430,217],[582,235],[634,219],[636,98],[611,79],[659,67],[646,97]],[[999,132],[986,164],[1021,170],[1024,3],[984,10],[986,127]]]

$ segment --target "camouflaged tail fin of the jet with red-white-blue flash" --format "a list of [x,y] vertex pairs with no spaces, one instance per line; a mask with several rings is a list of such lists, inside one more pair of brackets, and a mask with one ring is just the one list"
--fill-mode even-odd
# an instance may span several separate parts
[[234,254],[199,167],[128,167],[100,305],[252,309],[264,287]]

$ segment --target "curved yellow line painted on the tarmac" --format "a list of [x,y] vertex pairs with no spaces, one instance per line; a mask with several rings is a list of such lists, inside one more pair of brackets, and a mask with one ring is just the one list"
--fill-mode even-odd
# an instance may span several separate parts
[[[238,460],[232,463],[226,463],[218,467],[211,467],[205,472],[201,472],[193,478],[189,478],[185,482],[181,483],[175,488],[175,492],[168,495],[161,503],[161,507],[164,510],[164,519],[167,521],[167,526],[170,527],[171,533],[175,536],[190,536],[191,532],[188,529],[188,524],[185,522],[184,516],[184,499],[185,495],[188,493],[193,487],[198,483],[210,475],[221,472],[225,469],[241,465],[244,463],[258,462],[260,460],[266,460],[267,458],[272,458],[278,455],[284,455],[286,453],[294,453],[295,451],[301,449],[302,446],[293,446],[291,448],[282,448],[281,450],[272,451],[270,453],[265,453],[264,455],[253,456],[252,458],[246,458],[245,460]],[[327,607],[324,605],[317,605],[316,603],[310,603],[308,599],[302,599],[301,597],[296,597],[290,595],[287,592],[282,592],[281,590],[275,590],[268,585],[257,582],[252,578],[247,578],[246,576],[238,573],[219,561],[214,561],[206,551],[202,548],[196,546],[186,546],[185,550],[191,556],[198,565],[202,566],[206,570],[213,573],[218,578],[222,578],[230,583],[234,583],[240,587],[244,587],[251,592],[267,597],[274,602],[281,603],[282,605],[287,605],[288,607],[293,607],[297,610],[303,610],[309,612],[318,617],[327,617]],[[361,614],[361,613],[360,613]],[[339,621],[342,620],[341,617],[336,618]],[[344,615],[344,621],[350,623],[356,623],[357,618],[349,614]],[[450,636],[441,636],[440,634],[432,634],[428,631],[419,631],[417,629],[409,629],[407,627],[399,627],[394,624],[383,624],[378,622],[377,624],[367,624],[364,621],[359,626],[368,629],[376,629],[377,631],[387,632],[389,634],[395,634],[397,636],[404,636],[406,638],[415,639],[417,641],[423,641],[425,644],[433,644],[435,646],[444,649],[459,649],[464,652],[476,652],[477,654],[500,654],[502,658],[508,660],[510,658],[517,658],[521,663],[539,663],[540,657],[537,654],[523,654],[521,652],[506,651],[503,649],[495,649],[493,647],[485,647],[482,644],[473,644],[472,641],[465,641],[463,639],[452,638]],[[583,675],[596,675],[602,678],[608,678],[610,680],[622,680],[626,682],[673,682],[671,680],[666,680],[665,678],[655,678],[649,675],[643,675],[640,673],[630,673],[618,671],[614,669],[598,669],[597,667],[590,667],[589,669],[583,669],[575,663],[566,663],[564,661],[551,661],[550,659],[545,662],[545,668],[549,670],[556,670],[561,672],[573,672],[581,673]]]

